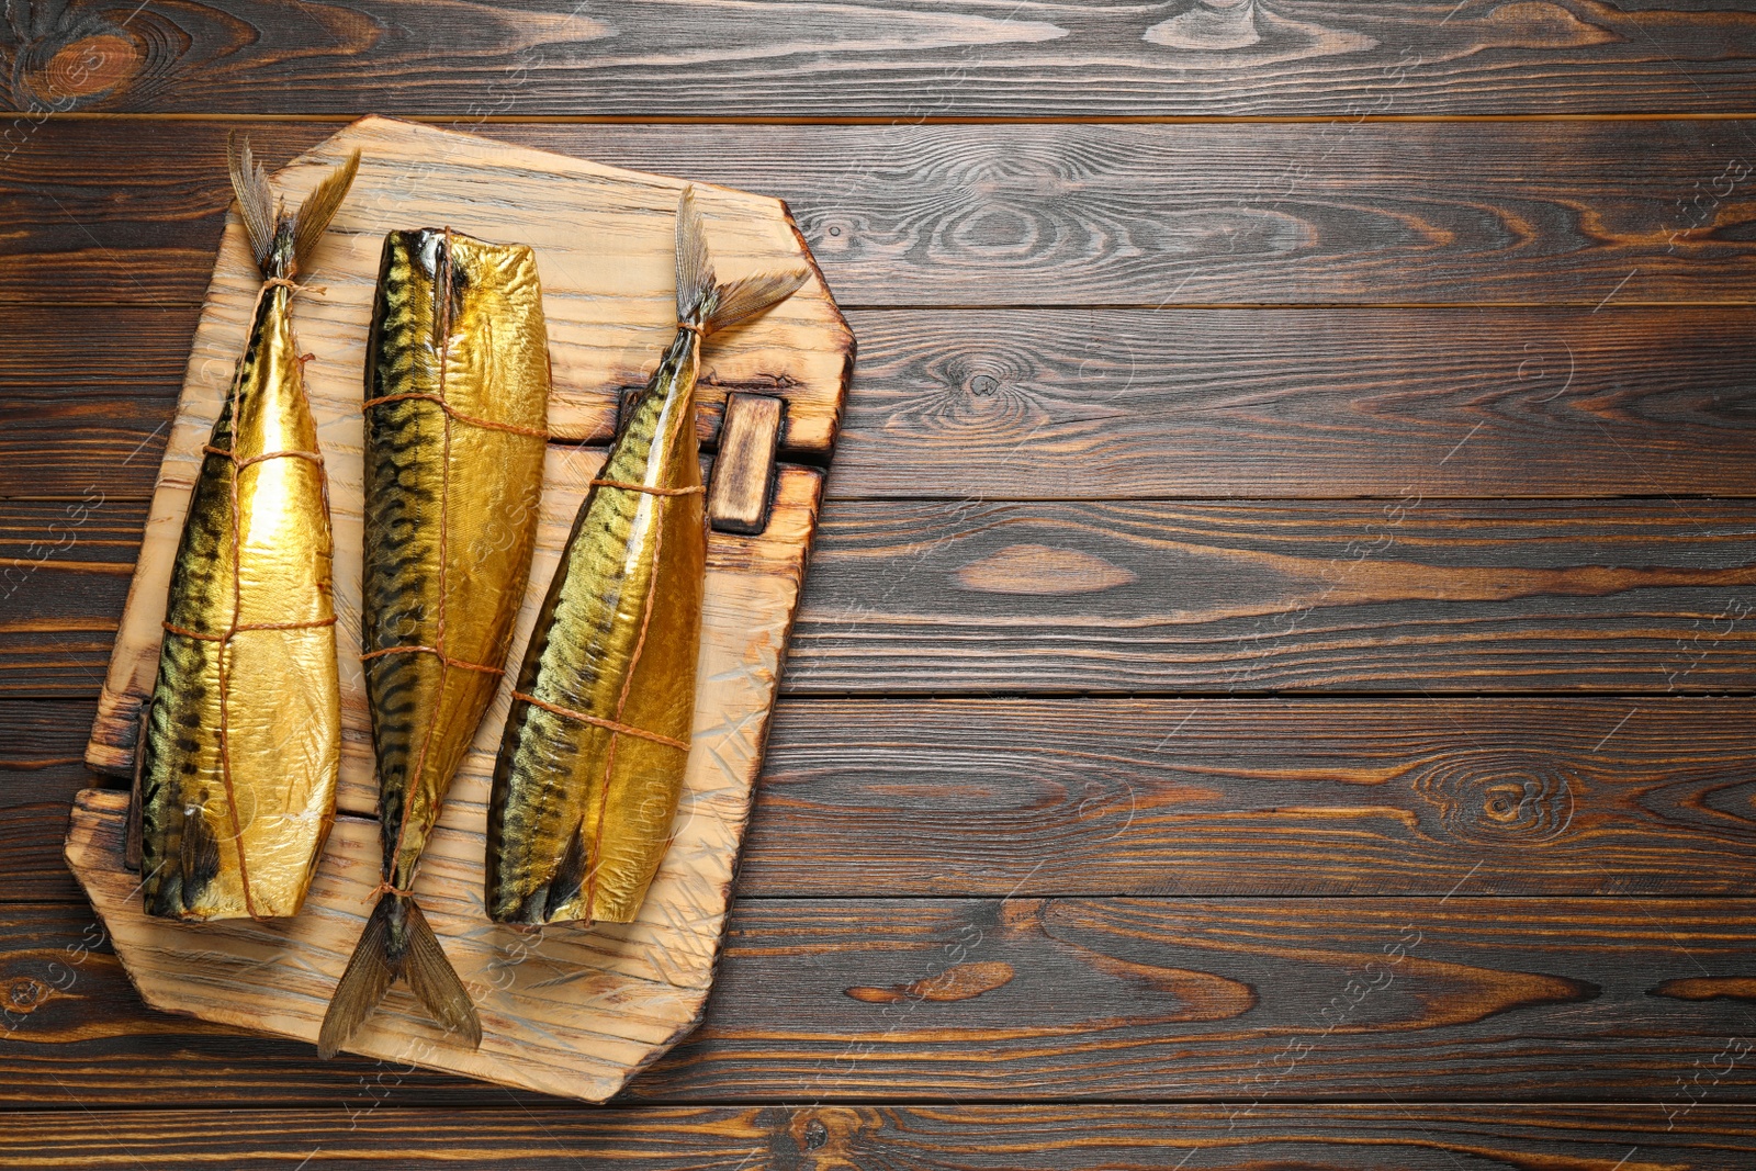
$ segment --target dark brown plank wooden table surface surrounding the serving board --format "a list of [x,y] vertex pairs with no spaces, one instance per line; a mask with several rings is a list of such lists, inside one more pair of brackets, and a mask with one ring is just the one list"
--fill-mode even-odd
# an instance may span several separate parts
[[[1756,1166],[1756,12],[1672,7],[9,9],[0,1162]],[[780,195],[860,342],[606,1110],[149,1013],[60,862],[225,135],[367,111]]]

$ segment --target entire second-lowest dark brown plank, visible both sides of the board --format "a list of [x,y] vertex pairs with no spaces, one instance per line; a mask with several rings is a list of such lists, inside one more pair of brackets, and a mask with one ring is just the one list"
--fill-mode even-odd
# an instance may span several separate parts
[[[1749,899],[746,899],[629,1096],[1747,1103],[1752,939]],[[104,946],[0,908],[0,1103],[506,1103],[149,1013]]]

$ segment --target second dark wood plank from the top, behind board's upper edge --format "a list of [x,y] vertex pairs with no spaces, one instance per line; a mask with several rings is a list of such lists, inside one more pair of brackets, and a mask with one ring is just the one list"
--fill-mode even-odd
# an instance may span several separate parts
[[[1751,18],[1756,21],[1756,18]],[[253,83],[255,84],[255,83]],[[845,307],[1740,302],[1749,121],[615,126],[493,137],[778,195]],[[198,300],[235,123],[37,128],[0,298]],[[334,125],[258,123],[270,162]]]

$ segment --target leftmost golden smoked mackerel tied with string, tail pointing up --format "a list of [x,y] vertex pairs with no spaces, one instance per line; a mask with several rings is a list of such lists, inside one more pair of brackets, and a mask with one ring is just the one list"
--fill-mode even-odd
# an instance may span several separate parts
[[184,920],[297,913],[341,767],[334,544],[288,283],[358,154],[304,225],[274,207],[248,144],[232,162],[267,279],[177,544],[133,801],[146,911]]

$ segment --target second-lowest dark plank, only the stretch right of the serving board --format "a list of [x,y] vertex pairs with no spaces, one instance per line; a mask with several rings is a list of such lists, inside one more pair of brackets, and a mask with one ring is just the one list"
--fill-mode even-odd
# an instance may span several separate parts
[[[1751,1006],[1731,999],[1749,990],[1751,909],[752,901],[708,1022],[632,1094],[1663,1101],[1737,1038],[1712,1088],[1737,1101],[1756,1088],[1738,1055]],[[1654,995],[1673,973],[1719,997]],[[750,1046],[792,1052],[773,1067]]]

